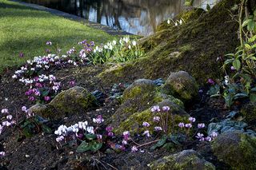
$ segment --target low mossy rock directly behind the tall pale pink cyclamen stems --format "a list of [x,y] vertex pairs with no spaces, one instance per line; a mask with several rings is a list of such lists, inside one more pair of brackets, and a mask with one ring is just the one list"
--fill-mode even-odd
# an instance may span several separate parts
[[[179,106],[176,105],[170,99],[164,100],[158,103],[159,107],[162,108],[163,106],[169,106],[170,111],[168,113],[152,113],[150,109],[146,109],[142,112],[134,113],[130,115],[130,117],[126,117],[125,121],[122,121],[118,128],[115,128],[114,132],[117,134],[122,134],[124,131],[130,131],[130,134],[134,133],[141,133],[145,130],[150,130],[150,132],[154,131],[155,126],[159,126],[158,123],[153,121],[155,116],[159,116],[162,114],[166,117],[166,114],[169,115],[168,117],[168,132],[176,132],[179,130],[178,123],[179,122],[186,122],[189,115]],[[142,126],[142,123],[146,121],[150,124],[150,127],[145,128]]]

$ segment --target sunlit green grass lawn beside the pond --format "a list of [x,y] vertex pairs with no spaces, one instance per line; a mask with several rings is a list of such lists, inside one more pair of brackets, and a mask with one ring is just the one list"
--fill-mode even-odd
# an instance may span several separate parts
[[[47,41],[66,52],[84,39],[106,42],[113,38],[82,23],[0,0],[0,73],[45,54]],[[19,57],[20,52],[24,53],[23,58]]]

